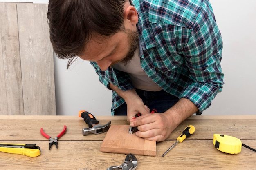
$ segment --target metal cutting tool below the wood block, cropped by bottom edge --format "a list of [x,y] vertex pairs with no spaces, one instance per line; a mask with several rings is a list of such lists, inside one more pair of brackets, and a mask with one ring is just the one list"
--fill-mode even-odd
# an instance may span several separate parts
[[128,154],[124,163],[119,166],[110,166],[106,170],[135,170],[138,166],[137,158],[133,154]]

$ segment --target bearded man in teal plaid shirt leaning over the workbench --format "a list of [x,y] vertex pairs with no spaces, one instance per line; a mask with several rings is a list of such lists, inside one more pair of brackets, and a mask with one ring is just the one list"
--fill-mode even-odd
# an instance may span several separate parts
[[58,57],[90,61],[113,90],[113,115],[127,114],[139,137],[164,141],[222,91],[208,0],[49,0],[48,19]]

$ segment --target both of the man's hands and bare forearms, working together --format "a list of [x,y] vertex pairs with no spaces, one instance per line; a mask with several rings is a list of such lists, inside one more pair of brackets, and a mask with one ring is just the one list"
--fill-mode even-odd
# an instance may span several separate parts
[[[198,108],[189,99],[181,98],[173,107],[164,113],[150,113],[147,106],[134,89],[122,91],[110,83],[110,88],[123,97],[127,104],[127,121],[130,126],[138,126],[138,137],[152,141],[164,141],[171,132]],[[132,119],[136,114],[141,116]]]

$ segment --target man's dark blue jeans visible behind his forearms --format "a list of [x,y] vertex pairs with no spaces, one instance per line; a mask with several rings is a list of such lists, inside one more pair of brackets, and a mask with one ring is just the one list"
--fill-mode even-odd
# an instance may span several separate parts
[[[157,110],[157,113],[163,113],[171,108],[179,98],[167,93],[164,90],[161,91],[144,91],[136,89],[137,94],[141,97],[142,101],[150,111]],[[126,103],[122,104],[114,110],[114,115],[127,115]]]

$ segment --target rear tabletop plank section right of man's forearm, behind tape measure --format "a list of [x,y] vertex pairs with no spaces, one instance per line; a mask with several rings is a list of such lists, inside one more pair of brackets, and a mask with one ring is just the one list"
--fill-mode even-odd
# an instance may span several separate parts
[[256,139],[256,134],[252,133],[256,131],[256,119],[200,119],[201,116],[196,117],[183,121],[168,139],[176,139],[188,125],[195,126],[195,133],[188,140],[213,139],[214,133],[239,139]]

